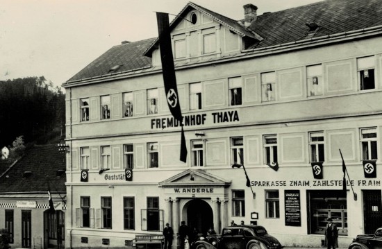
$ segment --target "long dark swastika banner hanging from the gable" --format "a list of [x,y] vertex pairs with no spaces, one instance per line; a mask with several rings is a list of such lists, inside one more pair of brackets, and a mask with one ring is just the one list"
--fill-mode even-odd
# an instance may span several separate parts
[[183,117],[181,105],[179,103],[178,88],[176,87],[174,58],[172,58],[172,42],[169,29],[169,15],[163,12],[156,12],[158,24],[160,61],[162,62],[163,82],[165,83],[165,95],[167,105],[172,116],[181,123],[181,155],[180,160],[187,160],[187,146],[183,130]]

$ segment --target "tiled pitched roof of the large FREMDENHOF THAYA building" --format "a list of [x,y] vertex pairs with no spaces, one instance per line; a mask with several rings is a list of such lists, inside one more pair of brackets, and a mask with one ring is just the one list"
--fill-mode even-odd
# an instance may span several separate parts
[[[191,2],[181,10],[177,17],[187,13],[190,8],[203,12],[242,37],[247,36],[254,40],[260,40],[260,42],[254,42],[249,46],[247,52],[251,49],[278,46],[313,37],[324,37],[325,35],[349,33],[349,31],[382,25],[380,0],[326,0],[278,12],[265,12],[263,15],[258,15],[256,21],[248,28],[242,26],[243,20],[235,21]],[[171,25],[180,21],[181,18],[174,19]],[[317,25],[319,28],[309,32],[310,28],[306,25],[309,23],[313,26]],[[66,84],[76,80],[122,74],[140,70],[142,67],[149,68],[151,67],[151,58],[142,54],[155,47],[156,41],[157,38],[152,38],[113,46],[112,49],[103,53],[94,62],[70,78],[63,86],[65,87]],[[242,55],[247,55],[247,52],[242,53]],[[240,55],[235,55],[235,57],[238,56]],[[116,65],[120,65],[120,67],[110,71]]]

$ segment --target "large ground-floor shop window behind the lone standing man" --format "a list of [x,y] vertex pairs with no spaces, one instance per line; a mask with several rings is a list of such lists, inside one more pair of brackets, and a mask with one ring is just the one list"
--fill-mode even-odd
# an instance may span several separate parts
[[347,200],[342,190],[308,191],[310,233],[324,234],[327,219],[332,218],[338,234],[347,235]]

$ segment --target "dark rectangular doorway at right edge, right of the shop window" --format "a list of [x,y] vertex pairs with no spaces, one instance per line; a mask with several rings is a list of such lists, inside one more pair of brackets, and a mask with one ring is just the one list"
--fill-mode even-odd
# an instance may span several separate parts
[[381,190],[363,190],[365,234],[374,234],[382,223]]

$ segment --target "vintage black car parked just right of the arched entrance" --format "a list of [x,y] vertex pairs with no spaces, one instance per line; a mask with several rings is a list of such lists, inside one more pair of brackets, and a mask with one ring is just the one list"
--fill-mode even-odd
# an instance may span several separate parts
[[201,238],[193,249],[281,249],[281,243],[260,225],[224,227],[221,235]]

